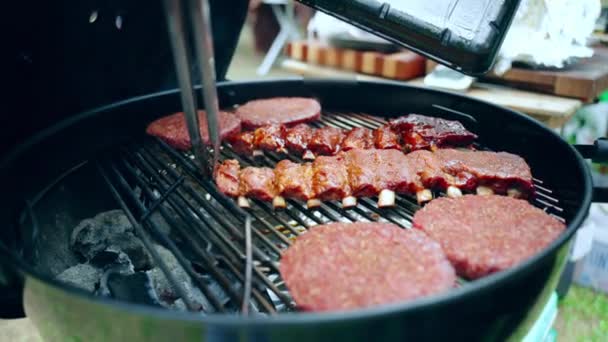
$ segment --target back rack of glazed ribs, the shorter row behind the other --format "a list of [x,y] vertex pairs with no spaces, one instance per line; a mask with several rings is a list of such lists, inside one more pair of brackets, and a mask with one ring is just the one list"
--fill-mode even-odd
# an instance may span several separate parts
[[352,149],[396,149],[406,152],[468,146],[477,136],[456,121],[411,114],[393,119],[374,130],[356,127],[312,128],[306,124],[293,127],[272,124],[243,132],[230,138],[239,154],[255,150],[286,152],[314,159],[316,155],[335,155]]

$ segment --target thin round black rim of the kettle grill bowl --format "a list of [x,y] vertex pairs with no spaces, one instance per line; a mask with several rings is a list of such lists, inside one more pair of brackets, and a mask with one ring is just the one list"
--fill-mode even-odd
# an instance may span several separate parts
[[[272,86],[276,89],[282,87],[291,87],[291,92],[299,92],[301,89],[309,88],[325,88],[325,87],[397,87],[401,89],[415,89],[422,93],[434,93],[434,95],[441,95],[455,101],[466,101],[477,106],[485,106],[486,109],[493,109],[496,111],[502,111],[503,113],[513,116],[514,119],[525,122],[526,125],[533,127],[536,130],[542,131],[545,135],[552,137],[553,142],[556,144],[556,148],[564,153],[569,153],[574,157],[576,161],[576,168],[579,175],[582,176],[583,192],[582,201],[576,214],[572,217],[567,225],[566,231],[556,239],[549,247],[538,253],[534,257],[524,261],[520,265],[497,274],[490,275],[488,277],[476,280],[465,288],[457,288],[448,291],[443,294],[438,294],[428,298],[422,298],[411,302],[400,303],[400,304],[388,304],[379,307],[361,309],[356,311],[345,311],[345,312],[328,312],[328,313],[296,313],[296,314],[281,314],[271,318],[259,317],[259,316],[232,316],[232,315],[215,315],[209,314],[201,317],[200,315],[188,313],[188,312],[174,312],[161,308],[152,308],[141,304],[127,303],[124,301],[97,297],[84,290],[65,285],[46,274],[42,274],[39,271],[34,270],[31,265],[28,265],[19,258],[13,251],[11,251],[2,241],[0,241],[0,252],[6,255],[6,260],[9,264],[17,267],[18,269],[24,270],[27,275],[32,276],[34,279],[43,283],[48,283],[57,290],[67,291],[68,293],[74,294],[83,300],[95,302],[101,305],[119,307],[121,309],[128,310],[136,314],[153,315],[159,318],[165,319],[176,319],[186,321],[204,322],[221,326],[250,326],[250,327],[262,327],[262,326],[276,326],[276,325],[301,325],[301,324],[321,324],[331,323],[336,321],[345,320],[362,320],[367,318],[387,318],[393,315],[404,313],[406,311],[413,311],[421,308],[432,308],[436,306],[444,305],[455,305],[472,296],[476,296],[480,293],[491,291],[494,287],[499,287],[507,281],[519,281],[526,274],[529,274],[533,270],[537,269],[542,261],[546,261],[550,257],[554,256],[558,252],[558,248],[562,247],[582,224],[583,220],[587,217],[589,207],[592,200],[592,181],[591,173],[589,168],[586,166],[580,153],[566,141],[561,139],[557,133],[547,129],[540,122],[516,111],[503,108],[486,101],[473,99],[461,94],[449,93],[441,90],[431,90],[417,86],[404,85],[394,81],[352,81],[352,80],[302,80],[302,79],[274,79],[274,80],[263,80],[263,81],[243,81],[243,82],[220,82],[218,83],[218,90],[230,92],[238,92],[241,87],[258,87],[258,86]],[[79,122],[92,119],[93,117],[101,116],[107,111],[116,110],[121,107],[129,106],[130,104],[137,103],[140,101],[154,99],[160,96],[176,95],[178,90],[170,90],[159,92],[155,94],[149,94],[141,97],[128,99],[115,104],[107,105],[98,109],[87,111],[85,113],[71,117],[70,119],[64,120],[55,126],[45,129],[32,138],[28,139],[21,145],[12,149],[3,160],[0,162],[0,170],[10,169],[15,160],[18,160],[19,156],[28,152],[29,149],[34,148],[38,144],[43,144],[44,141],[57,133],[61,133],[66,128],[77,125]],[[255,96],[255,94],[252,94]],[[484,134],[484,133],[482,133]],[[49,189],[45,189],[49,190]]]

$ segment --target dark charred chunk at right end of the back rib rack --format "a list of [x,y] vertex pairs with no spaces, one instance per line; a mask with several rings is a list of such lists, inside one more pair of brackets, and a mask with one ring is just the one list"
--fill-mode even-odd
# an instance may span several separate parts
[[410,114],[389,121],[390,127],[401,132],[407,151],[443,146],[470,145],[477,136],[458,121]]

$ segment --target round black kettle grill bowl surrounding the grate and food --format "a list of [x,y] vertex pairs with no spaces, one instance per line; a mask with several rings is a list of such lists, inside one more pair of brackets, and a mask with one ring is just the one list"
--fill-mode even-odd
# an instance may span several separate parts
[[[572,234],[587,215],[591,181],[581,156],[540,123],[516,112],[468,97],[404,86],[392,82],[273,80],[227,82],[218,88],[223,107],[271,96],[313,96],[324,108],[338,112],[365,112],[391,117],[408,112],[461,121],[480,136],[480,144],[521,155],[535,177],[552,190],[563,209],[567,230],[530,260],[445,294],[409,303],[346,313],[288,313],[274,317],[200,315],[172,312],[94,297],[50,277],[44,260],[67,249],[56,224],[63,208],[84,212],[102,204],[74,197],[56,180],[75,166],[108,150],[147,139],[151,120],[179,110],[176,91],[153,94],[113,104],[72,117],[41,132],[15,148],[0,164],[5,196],[0,208],[0,250],[24,279],[25,309],[44,336],[67,335],[95,340],[261,337],[290,340],[350,338],[387,339],[498,338],[521,326],[537,299],[555,287]],[[43,167],[42,167],[43,166]],[[86,175],[86,173],[85,173]],[[85,177],[85,176],[83,176]],[[72,179],[74,175],[65,179]],[[88,193],[102,194],[101,179],[84,178]],[[58,185],[59,184],[59,185]],[[81,194],[82,195],[82,194]],[[98,202],[102,202],[103,196]],[[15,224],[36,211],[40,221]],[[110,208],[107,208],[110,209]],[[88,216],[95,212],[87,212]],[[84,217],[87,217],[86,215]],[[53,221],[55,220],[55,221]],[[54,233],[54,234],[53,234]],[[58,240],[58,241],[55,241]],[[47,265],[48,266],[48,265]],[[61,304],[61,305],[58,305]],[[88,314],[83,314],[88,313]],[[88,317],[88,318],[85,318]],[[94,319],[92,318],[94,317]],[[88,322],[87,325],[85,322]],[[148,335],[149,334],[149,335]]]

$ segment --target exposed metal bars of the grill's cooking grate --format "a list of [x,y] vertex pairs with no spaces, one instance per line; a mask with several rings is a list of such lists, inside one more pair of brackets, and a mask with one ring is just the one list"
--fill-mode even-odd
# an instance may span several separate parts
[[[331,125],[339,128],[376,128],[385,123],[378,117],[359,113],[324,113],[313,126]],[[235,158],[243,165],[274,166],[292,155],[266,153],[253,158],[236,155],[229,146],[222,148],[224,158]],[[251,217],[253,265],[251,289],[246,289],[246,213],[220,194],[212,180],[203,179],[188,153],[177,152],[160,140],[149,138],[143,144],[122,148],[107,154],[97,163],[99,172],[137,234],[151,252],[167,279],[191,311],[206,313],[248,312],[276,314],[294,311],[295,304],[278,272],[281,250],[307,228],[331,221],[392,222],[405,228],[411,226],[420,207],[414,197],[397,196],[397,206],[379,209],[373,198],[360,199],[354,208],[345,210],[339,202],[324,202],[309,210],[302,203],[287,200],[287,207],[275,211],[271,204],[251,200],[247,210]],[[534,204],[563,220],[559,201],[541,180],[534,180],[538,195]],[[435,193],[435,196],[443,196]],[[151,220],[159,213],[172,227],[171,236],[161,232]],[[208,303],[198,307],[188,300],[183,286],[172,270],[151,247],[156,239],[167,247],[198,286]],[[210,282],[209,279],[213,282]],[[461,281],[460,285],[465,284]],[[217,286],[219,285],[219,289]],[[465,285],[466,286],[466,285]],[[245,295],[244,295],[245,294]],[[248,300],[247,298],[250,299]],[[244,303],[245,298],[245,305]]]

